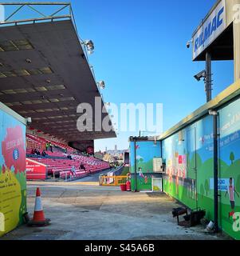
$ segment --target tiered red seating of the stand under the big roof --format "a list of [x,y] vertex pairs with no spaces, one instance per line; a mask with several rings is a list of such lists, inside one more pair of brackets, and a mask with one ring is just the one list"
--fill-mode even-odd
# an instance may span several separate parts
[[[46,149],[47,143],[53,146],[53,152],[49,148]],[[34,149],[40,153],[45,150],[46,155],[33,154]],[[108,162],[103,162],[92,156],[81,155],[77,150],[61,142],[46,140],[33,134],[26,134],[26,156],[47,166],[49,178],[72,180],[110,168]],[[81,164],[85,170],[81,170]]]

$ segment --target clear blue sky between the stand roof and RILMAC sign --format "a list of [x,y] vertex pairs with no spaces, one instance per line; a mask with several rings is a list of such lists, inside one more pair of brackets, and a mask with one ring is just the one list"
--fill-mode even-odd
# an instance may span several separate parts
[[[105,102],[163,103],[163,130],[205,103],[203,82],[193,78],[205,63],[192,62],[186,42],[215,0],[71,2],[81,38],[95,44],[89,62],[106,83]],[[234,82],[234,64],[213,62],[213,73],[215,96]],[[96,141],[96,150],[126,149],[136,134]]]

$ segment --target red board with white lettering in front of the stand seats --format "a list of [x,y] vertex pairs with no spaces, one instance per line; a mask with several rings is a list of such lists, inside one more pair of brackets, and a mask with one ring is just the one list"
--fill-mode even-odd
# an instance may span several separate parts
[[44,164],[26,158],[26,179],[44,181],[46,178],[46,166]]

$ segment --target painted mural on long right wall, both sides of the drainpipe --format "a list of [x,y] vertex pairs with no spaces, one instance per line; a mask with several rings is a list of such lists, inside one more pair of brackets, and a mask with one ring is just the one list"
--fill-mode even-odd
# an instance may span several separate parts
[[[219,226],[240,239],[240,100],[219,113]],[[213,122],[207,116],[163,140],[163,190],[214,219]]]

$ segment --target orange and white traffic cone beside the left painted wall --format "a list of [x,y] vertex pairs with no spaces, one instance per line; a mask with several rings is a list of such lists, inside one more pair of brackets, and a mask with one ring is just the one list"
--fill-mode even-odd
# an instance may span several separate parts
[[45,218],[41,204],[41,192],[37,187],[36,199],[35,199],[35,210],[33,214],[33,219],[28,223],[29,226],[47,226],[49,225],[50,220]]

